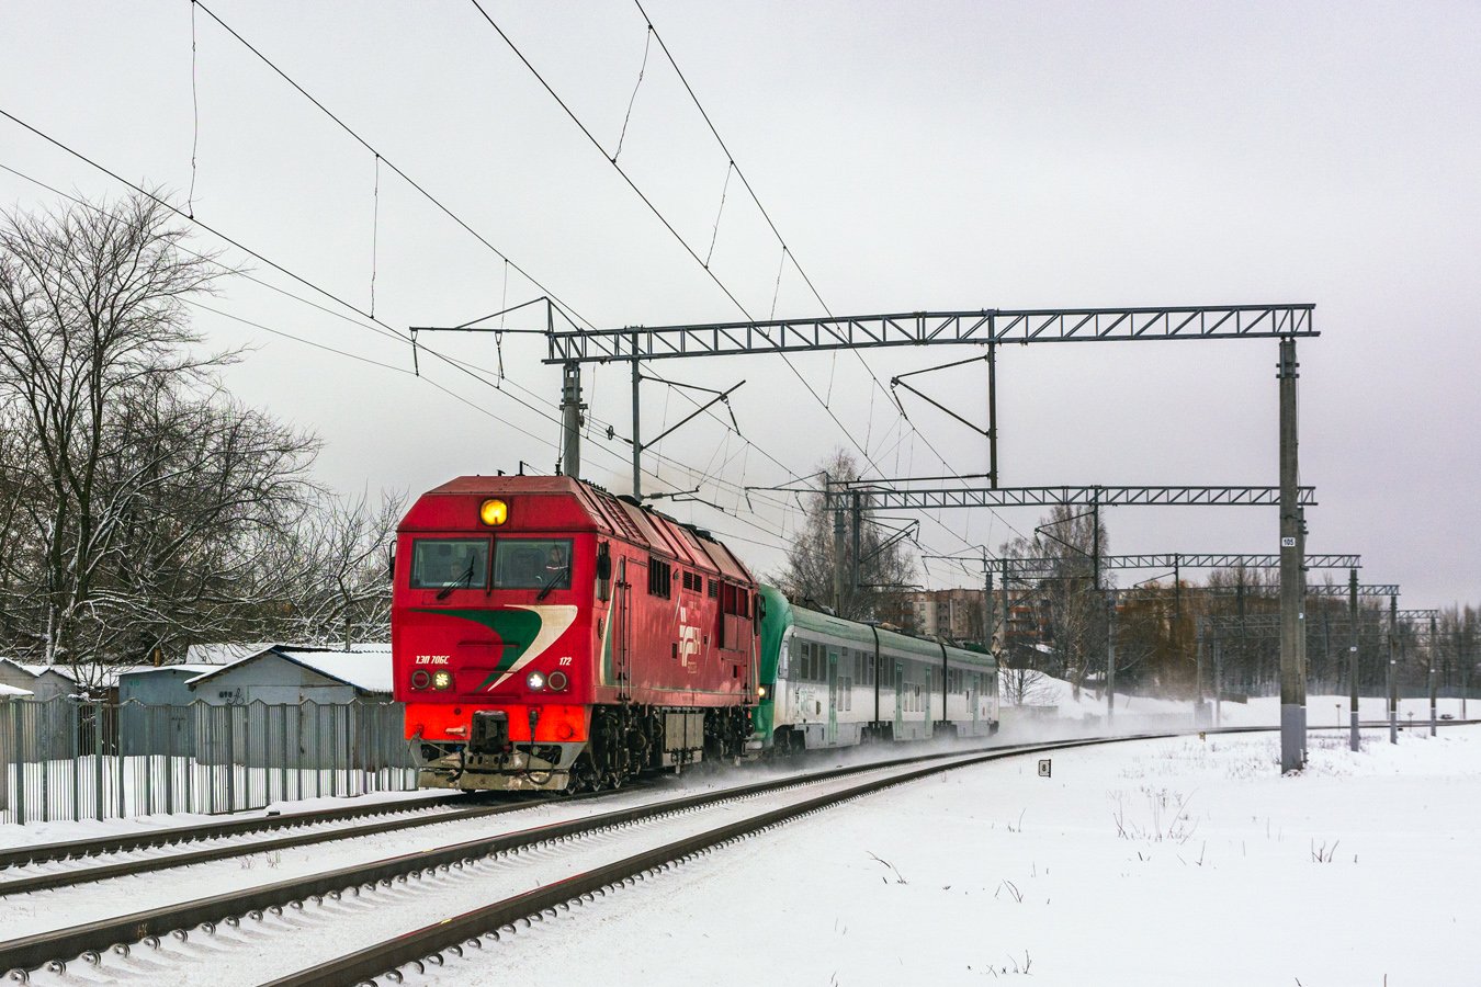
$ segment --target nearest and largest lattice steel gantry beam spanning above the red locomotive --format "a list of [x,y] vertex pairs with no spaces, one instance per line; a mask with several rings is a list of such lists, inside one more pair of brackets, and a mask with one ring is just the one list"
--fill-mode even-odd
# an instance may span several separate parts
[[1318,336],[1311,303],[979,309],[551,330],[545,363],[940,346]]

